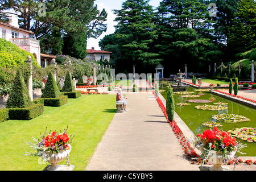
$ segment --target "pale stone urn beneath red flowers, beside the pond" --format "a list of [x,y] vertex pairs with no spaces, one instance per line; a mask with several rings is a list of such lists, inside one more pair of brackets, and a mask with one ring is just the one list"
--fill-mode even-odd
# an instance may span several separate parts
[[[226,162],[230,162],[234,159],[234,155],[236,154],[236,149],[232,152],[226,152]],[[213,163],[213,166],[210,167],[210,171],[230,171],[231,169],[228,167],[222,166],[223,164],[223,154],[222,152],[217,152],[214,150],[211,150],[209,152],[208,160],[209,162]]]

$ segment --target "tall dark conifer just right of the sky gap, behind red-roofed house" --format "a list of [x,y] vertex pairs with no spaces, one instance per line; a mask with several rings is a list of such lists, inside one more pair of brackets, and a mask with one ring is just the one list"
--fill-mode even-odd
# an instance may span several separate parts
[[118,22],[115,38],[121,46],[123,57],[132,64],[157,64],[157,53],[152,51],[152,43],[157,38],[154,16],[148,0],[126,0],[121,10],[114,10]]

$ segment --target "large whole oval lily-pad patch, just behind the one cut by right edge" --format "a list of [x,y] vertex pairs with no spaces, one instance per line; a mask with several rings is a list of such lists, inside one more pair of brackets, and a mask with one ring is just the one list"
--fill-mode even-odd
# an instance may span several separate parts
[[216,119],[217,121],[223,121],[223,122],[226,122],[226,123],[237,123],[237,122],[250,121],[249,118],[246,118],[243,115],[237,115],[237,114],[213,115],[213,119]]

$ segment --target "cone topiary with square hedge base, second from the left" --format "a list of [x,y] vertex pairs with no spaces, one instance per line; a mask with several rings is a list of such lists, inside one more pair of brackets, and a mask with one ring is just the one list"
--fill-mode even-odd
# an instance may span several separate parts
[[41,98],[45,106],[60,107],[68,102],[68,96],[62,96],[51,72],[48,74],[46,86]]

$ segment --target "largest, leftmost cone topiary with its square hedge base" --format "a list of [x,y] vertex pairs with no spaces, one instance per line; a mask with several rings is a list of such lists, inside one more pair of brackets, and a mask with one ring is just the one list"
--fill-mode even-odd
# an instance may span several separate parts
[[34,104],[31,101],[20,71],[16,72],[13,89],[6,102],[6,108],[8,108],[8,119],[30,120],[43,114],[44,105]]

